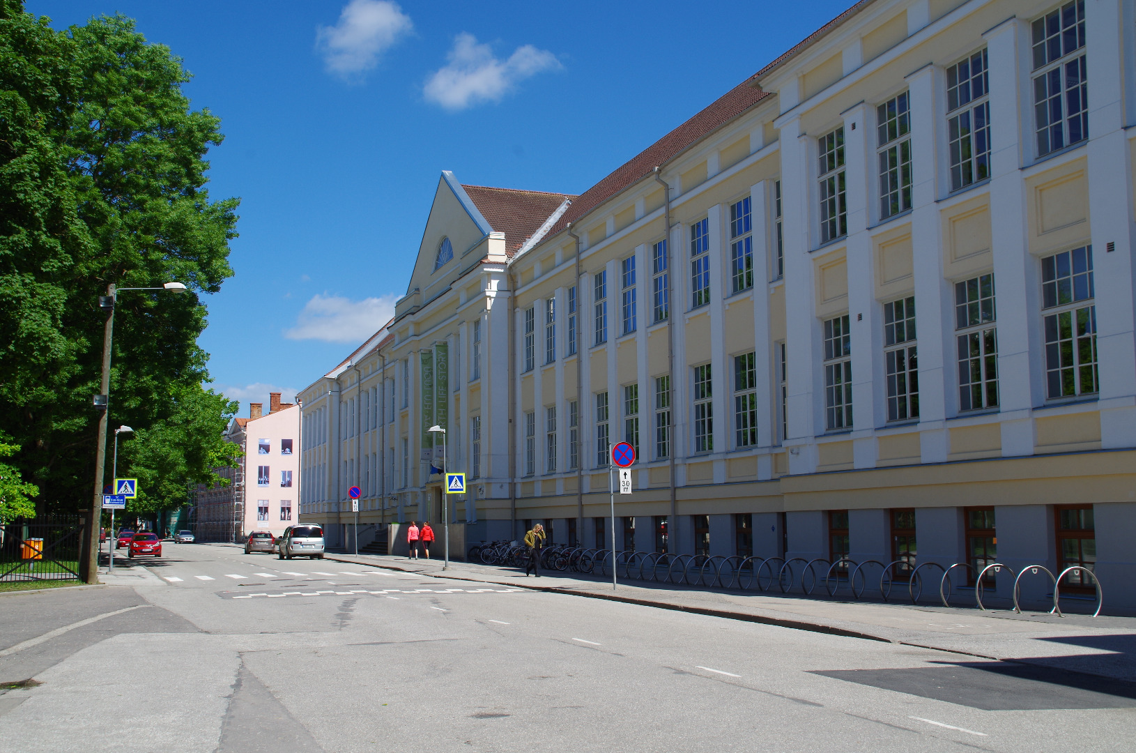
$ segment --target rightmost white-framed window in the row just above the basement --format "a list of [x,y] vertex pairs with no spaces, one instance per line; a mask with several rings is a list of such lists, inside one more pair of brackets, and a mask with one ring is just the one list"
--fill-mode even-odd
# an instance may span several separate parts
[[1051,400],[1100,390],[1093,246],[1042,259],[1045,384]]

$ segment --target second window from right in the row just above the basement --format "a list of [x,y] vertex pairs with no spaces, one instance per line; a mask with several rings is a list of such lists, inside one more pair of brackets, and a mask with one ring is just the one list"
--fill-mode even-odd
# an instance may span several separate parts
[[994,275],[954,284],[954,327],[959,355],[959,410],[997,405],[997,331]]

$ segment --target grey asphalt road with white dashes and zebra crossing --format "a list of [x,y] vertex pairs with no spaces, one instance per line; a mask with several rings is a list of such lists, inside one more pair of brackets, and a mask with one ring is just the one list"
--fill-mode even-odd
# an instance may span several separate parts
[[1136,685],[166,543],[0,596],[0,752],[1125,751]]

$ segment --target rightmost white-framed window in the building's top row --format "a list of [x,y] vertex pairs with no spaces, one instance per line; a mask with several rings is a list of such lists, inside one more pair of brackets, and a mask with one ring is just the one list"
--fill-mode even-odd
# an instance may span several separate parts
[[1067,2],[1031,25],[1037,156],[1088,139],[1085,0]]

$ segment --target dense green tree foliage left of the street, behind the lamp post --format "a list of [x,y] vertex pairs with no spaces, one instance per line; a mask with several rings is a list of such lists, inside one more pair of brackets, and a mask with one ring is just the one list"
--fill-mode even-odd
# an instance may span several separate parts
[[239,200],[206,190],[220,122],[191,109],[189,80],[124,16],[58,32],[0,0],[0,430],[41,504],[86,507],[93,491],[109,283],[190,288],[118,295],[109,421],[139,429],[119,470],[154,479],[158,509],[228,458],[236,407],[202,387],[197,338],[202,294],[233,274]]

